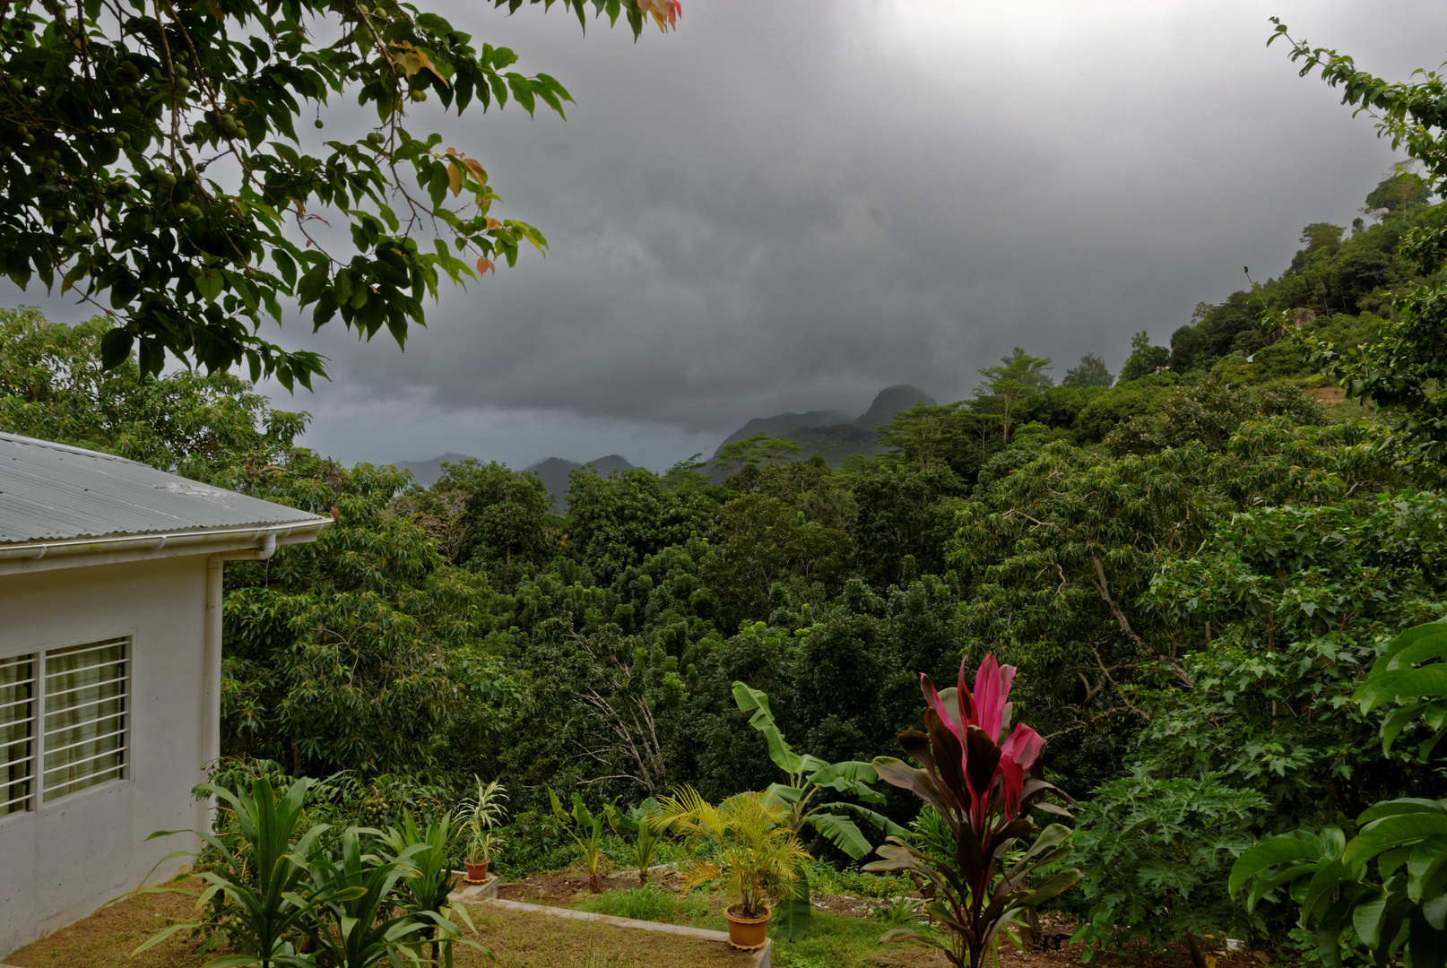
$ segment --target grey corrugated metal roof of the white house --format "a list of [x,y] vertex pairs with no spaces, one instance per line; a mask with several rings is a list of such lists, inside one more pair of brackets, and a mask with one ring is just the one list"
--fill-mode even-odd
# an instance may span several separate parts
[[0,433],[0,547],[315,518],[124,457]]

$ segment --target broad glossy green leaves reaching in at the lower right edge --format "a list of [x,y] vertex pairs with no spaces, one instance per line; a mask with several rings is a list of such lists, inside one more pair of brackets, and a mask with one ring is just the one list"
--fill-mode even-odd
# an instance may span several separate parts
[[[1447,622],[1409,628],[1388,642],[1353,699],[1362,712],[1404,703],[1382,722],[1382,750],[1422,721],[1428,736],[1417,754],[1430,757],[1447,732]],[[1317,926],[1327,968],[1341,967],[1349,925],[1379,965],[1404,959],[1409,968],[1447,968],[1447,800],[1385,800],[1367,807],[1357,826],[1350,841],[1338,828],[1262,841],[1231,867],[1231,897],[1244,893],[1252,910],[1286,887],[1301,907],[1298,923]]]

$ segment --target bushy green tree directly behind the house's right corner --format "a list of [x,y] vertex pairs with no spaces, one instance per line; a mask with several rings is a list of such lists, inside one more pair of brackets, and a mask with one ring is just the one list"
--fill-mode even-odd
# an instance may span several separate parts
[[227,569],[226,752],[284,761],[292,776],[420,773],[437,765],[451,726],[488,718],[476,700],[502,679],[501,660],[478,650],[491,589],[391,514],[405,480],[302,451],[246,485],[291,506],[337,508],[339,524],[315,544]]

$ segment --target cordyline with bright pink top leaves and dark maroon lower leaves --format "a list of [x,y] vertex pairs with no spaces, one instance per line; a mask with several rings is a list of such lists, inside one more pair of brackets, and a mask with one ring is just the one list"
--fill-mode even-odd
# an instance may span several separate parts
[[[1071,852],[1068,828],[1052,823],[1040,831],[1029,812],[1066,815],[1039,800],[1048,793],[1069,797],[1040,778],[1040,734],[1024,723],[1010,728],[1013,682],[1014,666],[1000,666],[994,655],[980,664],[974,690],[965,682],[965,663],[959,664],[958,684],[943,692],[922,674],[926,732],[899,735],[900,748],[920,768],[894,757],[874,760],[880,778],[935,807],[955,841],[954,855],[935,857],[891,836],[877,851],[884,859],[865,865],[870,871],[906,871],[923,881],[932,896],[926,910],[949,933],[946,943],[899,927],[881,942],[922,941],[943,949],[954,965],[980,968],[1003,926],[1079,880],[1081,873],[1072,868],[1033,888],[1027,884],[1033,870],[1058,864]],[[1035,833],[1039,836],[1001,870],[1016,841]]]

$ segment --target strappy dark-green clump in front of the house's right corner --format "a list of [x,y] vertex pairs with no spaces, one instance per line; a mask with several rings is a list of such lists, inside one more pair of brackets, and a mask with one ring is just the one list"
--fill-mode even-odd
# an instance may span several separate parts
[[[207,883],[201,891],[179,887],[156,887],[152,891],[190,894],[195,897],[195,909],[210,909],[203,917],[166,930],[136,948],[133,955],[165,941],[184,929],[221,927],[223,920],[233,943],[240,951],[217,958],[205,968],[310,968],[314,959],[297,954],[294,939],[304,926],[315,919],[324,906],[346,903],[365,894],[365,888],[328,883],[314,886],[307,867],[320,855],[320,838],[330,829],[326,823],[301,831],[305,813],[307,791],[311,780],[297,780],[285,794],[276,796],[265,776],[252,781],[250,793],[230,791],[211,783],[203,783],[198,791],[210,793],[221,800],[236,815],[242,838],[239,851],[210,831],[158,831],[158,836],[172,833],[194,833],[220,857],[220,862],[197,877]],[[295,844],[292,839],[295,838]],[[158,862],[158,867],[177,857],[195,857],[191,851],[174,851]],[[224,907],[218,894],[229,901]],[[217,903],[213,903],[217,901]]]

